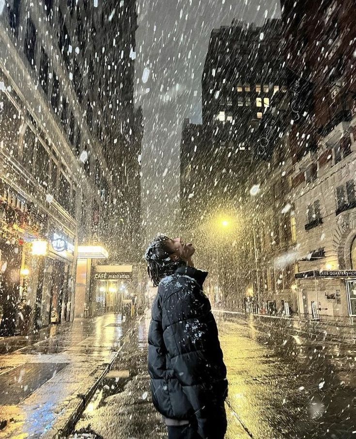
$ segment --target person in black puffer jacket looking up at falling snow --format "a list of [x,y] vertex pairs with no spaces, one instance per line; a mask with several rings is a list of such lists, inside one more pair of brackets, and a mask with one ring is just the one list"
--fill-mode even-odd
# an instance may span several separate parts
[[207,273],[194,268],[192,244],[158,236],[148,246],[148,275],[158,287],[148,334],[155,408],[169,439],[223,439],[226,367],[209,299]]

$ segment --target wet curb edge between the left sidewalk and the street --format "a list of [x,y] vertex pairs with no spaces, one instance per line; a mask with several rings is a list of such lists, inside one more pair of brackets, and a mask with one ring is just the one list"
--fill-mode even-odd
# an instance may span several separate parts
[[[51,431],[48,431],[41,436],[42,439],[63,439],[66,438],[72,432],[74,425],[77,423],[78,419],[82,415],[83,411],[85,410],[85,407],[92,399],[95,391],[100,386],[106,374],[109,372],[109,370],[112,368],[112,365],[115,363],[116,359],[118,358],[119,353],[123,349],[127,338],[129,338],[133,334],[137,324],[139,324],[142,318],[143,315],[137,317],[134,323],[128,328],[124,337],[121,339],[122,344],[120,348],[116,351],[114,358],[109,363],[107,363],[104,370],[101,372],[100,376],[96,379],[96,381],[90,387],[90,389],[86,391],[85,394],[78,394],[77,397],[68,404],[65,411],[67,412],[68,410],[70,414],[65,419],[63,420],[60,419],[56,423],[54,423],[51,428]],[[72,405],[74,407],[70,408]]]

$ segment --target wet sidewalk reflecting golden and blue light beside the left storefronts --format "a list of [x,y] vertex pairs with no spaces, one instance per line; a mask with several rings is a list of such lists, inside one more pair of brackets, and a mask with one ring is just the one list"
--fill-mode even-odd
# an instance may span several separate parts
[[59,335],[0,355],[0,439],[65,436],[130,327],[114,314],[80,319]]

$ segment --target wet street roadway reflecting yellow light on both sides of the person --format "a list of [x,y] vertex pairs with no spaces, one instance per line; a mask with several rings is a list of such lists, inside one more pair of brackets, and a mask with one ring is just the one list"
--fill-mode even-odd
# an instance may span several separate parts
[[[228,368],[226,439],[356,438],[356,345],[323,331],[217,316]],[[149,315],[132,333],[71,438],[163,439],[150,400]]]

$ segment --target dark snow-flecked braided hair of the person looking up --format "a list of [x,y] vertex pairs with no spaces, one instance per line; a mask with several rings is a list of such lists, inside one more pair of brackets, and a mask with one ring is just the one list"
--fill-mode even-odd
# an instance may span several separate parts
[[168,236],[158,235],[148,246],[145,253],[147,261],[148,277],[153,281],[155,287],[163,277],[170,276],[175,270],[185,265],[184,260],[172,260],[170,255],[174,252],[167,245]]

